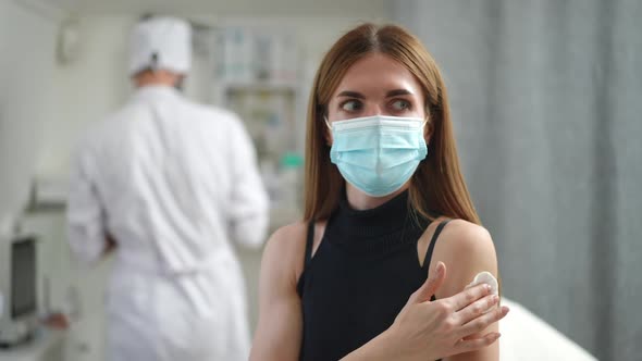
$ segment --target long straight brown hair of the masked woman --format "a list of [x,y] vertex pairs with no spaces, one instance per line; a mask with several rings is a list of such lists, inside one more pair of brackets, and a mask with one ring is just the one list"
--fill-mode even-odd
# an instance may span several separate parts
[[344,179],[330,162],[323,116],[347,70],[379,52],[406,66],[422,87],[431,134],[428,157],[419,163],[409,187],[409,207],[419,215],[445,215],[480,224],[459,170],[450,109],[444,80],[421,41],[396,25],[363,24],[341,37],[321,61],[308,105],[304,219],[324,220],[337,207]]

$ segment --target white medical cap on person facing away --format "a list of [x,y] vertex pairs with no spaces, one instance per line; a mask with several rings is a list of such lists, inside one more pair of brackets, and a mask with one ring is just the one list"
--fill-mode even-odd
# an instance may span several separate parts
[[129,75],[145,69],[186,74],[192,64],[192,27],[174,17],[151,17],[134,28],[129,43]]

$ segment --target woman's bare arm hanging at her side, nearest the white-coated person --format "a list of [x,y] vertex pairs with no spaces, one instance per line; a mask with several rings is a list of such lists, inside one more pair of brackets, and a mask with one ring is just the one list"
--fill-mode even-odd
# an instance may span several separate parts
[[276,231],[268,240],[259,275],[259,321],[250,360],[297,360],[303,334],[296,290],[303,269],[305,225]]

